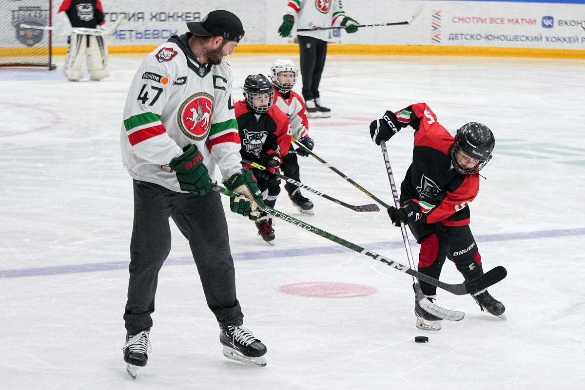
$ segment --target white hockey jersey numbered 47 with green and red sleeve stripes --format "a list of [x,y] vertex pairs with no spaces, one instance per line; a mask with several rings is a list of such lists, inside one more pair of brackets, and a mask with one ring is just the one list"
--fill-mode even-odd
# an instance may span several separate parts
[[227,62],[201,65],[187,36],[173,36],[148,54],[136,72],[124,107],[122,162],[136,180],[180,192],[168,167],[183,148],[195,144],[214,180],[242,170],[240,137]]

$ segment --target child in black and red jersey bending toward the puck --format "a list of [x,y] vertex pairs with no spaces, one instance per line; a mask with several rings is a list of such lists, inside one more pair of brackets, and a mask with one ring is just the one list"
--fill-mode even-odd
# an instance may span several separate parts
[[[408,224],[421,244],[418,271],[438,279],[445,259],[455,263],[465,280],[483,275],[481,256],[469,228],[469,203],[479,191],[479,171],[491,159],[495,140],[491,130],[481,123],[467,123],[455,138],[441,126],[425,103],[406,107],[397,113],[387,111],[370,124],[376,144],[388,141],[401,128],[414,128],[412,163],[400,187],[400,204],[388,208],[396,226]],[[436,287],[419,280],[429,300]],[[472,295],[490,314],[505,319],[505,307],[487,290]],[[415,298],[417,328],[440,330],[441,318],[424,311]]]

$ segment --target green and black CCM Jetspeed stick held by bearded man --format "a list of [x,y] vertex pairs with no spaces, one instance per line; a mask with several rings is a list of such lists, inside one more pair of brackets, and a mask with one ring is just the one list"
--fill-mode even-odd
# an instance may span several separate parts
[[[240,194],[235,193],[233,191],[230,191],[226,188],[223,188],[222,186],[219,186],[218,184],[215,184],[215,183],[211,183],[211,189],[216,191],[216,192],[219,192],[221,194],[227,195],[230,198],[236,198],[236,197],[240,196]],[[478,291],[481,291],[484,288],[490,287],[490,285],[498,283],[498,281],[502,280],[507,275],[507,271],[504,267],[497,266],[494,269],[487,271],[486,273],[484,273],[480,277],[474,278],[473,280],[469,280],[469,281],[466,281],[466,282],[461,283],[461,284],[443,283],[442,281],[436,280],[435,278],[432,278],[430,276],[426,276],[425,274],[419,273],[418,271],[411,269],[411,267],[403,266],[402,264],[397,263],[394,260],[390,260],[387,257],[378,255],[377,253],[372,252],[371,250],[368,250],[366,248],[363,248],[362,246],[359,246],[359,245],[356,245],[355,243],[346,241],[343,238],[340,238],[336,235],[328,233],[328,232],[326,232],[322,229],[319,229],[317,227],[314,227],[312,225],[306,224],[305,222],[303,222],[301,220],[297,220],[297,218],[291,217],[288,214],[284,214],[281,211],[274,210],[274,208],[263,207],[263,208],[260,208],[260,210],[263,211],[264,213],[273,215],[274,217],[278,218],[279,220],[283,220],[285,222],[288,222],[289,224],[296,225],[296,226],[300,227],[301,229],[304,229],[304,230],[309,231],[311,233],[314,233],[316,235],[322,236],[328,240],[331,240],[333,242],[338,243],[339,245],[343,245],[346,248],[349,248],[357,253],[362,253],[362,255],[366,255],[368,257],[371,257],[374,260],[378,260],[378,262],[382,262],[384,264],[387,264],[388,266],[390,266],[394,269],[397,269],[398,271],[402,271],[404,273],[409,274],[410,276],[417,277],[419,280],[423,280],[428,284],[435,285],[436,287],[442,288],[443,290],[449,291],[449,293],[452,293],[455,295],[466,295],[466,294],[477,293]]]

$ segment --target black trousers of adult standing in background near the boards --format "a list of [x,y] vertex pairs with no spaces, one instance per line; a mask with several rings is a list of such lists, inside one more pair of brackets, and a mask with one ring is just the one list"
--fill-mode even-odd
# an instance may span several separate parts
[[298,35],[301,51],[302,97],[307,100],[319,97],[319,82],[327,57],[327,42]]

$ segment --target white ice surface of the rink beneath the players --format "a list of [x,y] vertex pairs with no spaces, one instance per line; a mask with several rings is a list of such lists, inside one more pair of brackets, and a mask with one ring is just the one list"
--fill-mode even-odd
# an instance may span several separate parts
[[[277,57],[230,57],[236,98],[245,77],[268,74]],[[270,247],[252,222],[226,208],[245,326],[266,343],[268,365],[222,356],[190,249],[173,225],[153,351],[132,381],[121,352],[132,181],[121,166],[119,131],[142,58],[111,56],[111,77],[102,82],[0,71],[0,388],[585,388],[585,61],[433,57],[330,56],[321,92],[333,116],[310,121],[315,152],[391,203],[371,120],[426,102],[452,133],[469,121],[490,127],[496,147],[471,206],[472,229],[484,268],[508,270],[490,288],[508,320],[439,290],[439,304],[466,317],[444,321],[437,333],[418,330],[409,276],[281,221]],[[405,129],[388,142],[398,182],[412,140]],[[347,203],[373,203],[315,159],[300,163],[309,186]],[[408,264],[386,213],[355,213],[311,195],[315,215],[308,217],[283,194],[278,210]],[[449,261],[441,278],[462,281]],[[308,298],[278,291],[308,282],[377,292]],[[420,335],[429,343],[415,344]]]

